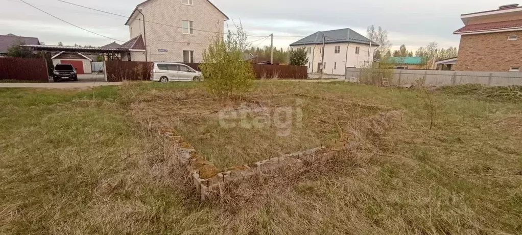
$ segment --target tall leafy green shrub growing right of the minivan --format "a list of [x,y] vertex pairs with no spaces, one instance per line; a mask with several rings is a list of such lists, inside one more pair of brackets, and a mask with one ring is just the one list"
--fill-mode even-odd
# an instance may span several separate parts
[[203,52],[203,63],[199,65],[209,93],[220,98],[246,92],[252,86],[255,75],[250,62],[243,59],[248,48],[243,26],[235,25],[236,32],[228,30],[227,39],[217,33]]

